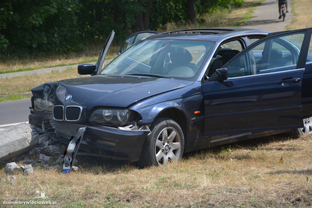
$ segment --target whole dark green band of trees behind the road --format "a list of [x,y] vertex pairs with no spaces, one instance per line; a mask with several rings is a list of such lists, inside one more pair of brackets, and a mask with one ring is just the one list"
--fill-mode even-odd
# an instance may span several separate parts
[[168,22],[196,24],[197,16],[244,0],[1,0],[0,53],[68,52],[81,42],[115,43],[129,33],[165,28]]

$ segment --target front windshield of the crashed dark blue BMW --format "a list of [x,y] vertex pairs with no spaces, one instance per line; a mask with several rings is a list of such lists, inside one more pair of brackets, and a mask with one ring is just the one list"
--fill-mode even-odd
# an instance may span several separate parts
[[121,53],[100,74],[194,81],[212,46],[209,41],[143,40]]

